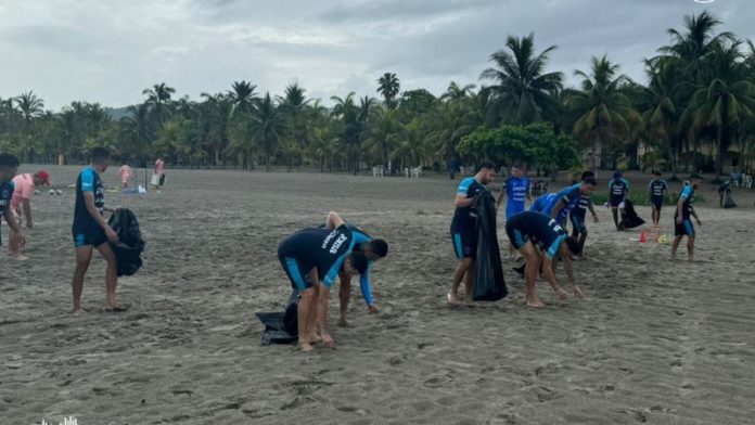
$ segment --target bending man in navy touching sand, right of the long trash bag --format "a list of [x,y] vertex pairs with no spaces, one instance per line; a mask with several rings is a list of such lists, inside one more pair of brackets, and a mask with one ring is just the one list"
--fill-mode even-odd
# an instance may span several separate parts
[[[512,217],[506,223],[506,233],[514,248],[519,249],[526,261],[524,278],[526,282],[525,298],[527,306],[540,308],[545,304],[535,293],[535,281],[542,266],[542,273],[561,299],[566,299],[566,292],[555,279],[553,260],[560,257],[572,283],[574,296],[581,298],[583,292],[574,281],[572,255],[579,253],[579,242],[567,236],[559,223],[540,212],[524,211]],[[542,262],[541,253],[542,252]]]

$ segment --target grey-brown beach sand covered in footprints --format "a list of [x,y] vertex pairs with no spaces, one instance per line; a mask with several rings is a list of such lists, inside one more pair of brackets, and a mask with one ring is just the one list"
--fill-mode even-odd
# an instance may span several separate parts
[[[73,182],[77,168],[50,171]],[[576,265],[587,299],[558,301],[540,282],[548,306],[527,308],[523,281],[507,270],[510,298],[451,308],[456,184],[169,170],[161,194],[106,194],[137,212],[148,241],[144,268],[119,282],[130,311],[102,311],[95,255],[89,313],[78,317],[69,314],[74,193],[38,195],[30,259],[0,257],[0,423],[753,423],[752,202],[699,206],[694,263],[670,262],[668,245],[630,241],[639,232],[613,231],[600,208],[589,260]],[[355,286],[351,327],[333,327],[336,349],[263,347],[254,312],[281,309],[290,292],[278,243],[330,209],[391,243],[373,272],[381,312],[368,314]],[[336,309],[333,296],[333,324]]]

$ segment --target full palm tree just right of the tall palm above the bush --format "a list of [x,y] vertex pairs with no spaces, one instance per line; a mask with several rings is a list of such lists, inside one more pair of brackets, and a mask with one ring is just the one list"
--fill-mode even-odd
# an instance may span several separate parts
[[575,70],[581,77],[581,90],[568,90],[566,104],[579,114],[574,124],[574,133],[592,146],[592,168],[598,167],[598,144],[606,146],[629,137],[634,125],[642,117],[631,105],[625,93],[630,82],[624,74],[617,75],[619,66],[612,64],[605,55],[592,56],[590,74]]

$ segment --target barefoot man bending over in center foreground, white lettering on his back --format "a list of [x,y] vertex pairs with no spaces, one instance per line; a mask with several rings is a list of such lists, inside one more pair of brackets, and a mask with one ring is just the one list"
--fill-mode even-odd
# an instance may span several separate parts
[[353,252],[357,242],[354,232],[340,217],[333,217],[332,224],[335,229],[298,231],[278,247],[278,259],[292,287],[302,293],[297,325],[298,345],[305,352],[319,342],[335,346],[328,330],[330,288],[340,272],[361,274],[368,267],[367,256]]

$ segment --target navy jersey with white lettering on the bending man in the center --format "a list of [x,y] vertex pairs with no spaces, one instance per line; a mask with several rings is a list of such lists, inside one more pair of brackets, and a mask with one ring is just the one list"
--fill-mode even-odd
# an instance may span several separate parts
[[283,241],[279,253],[305,266],[304,273],[317,267],[320,281],[330,287],[355,243],[354,232],[346,224],[335,230],[305,229]]

